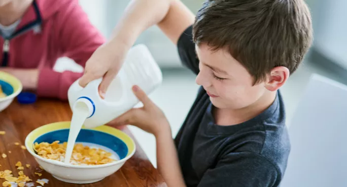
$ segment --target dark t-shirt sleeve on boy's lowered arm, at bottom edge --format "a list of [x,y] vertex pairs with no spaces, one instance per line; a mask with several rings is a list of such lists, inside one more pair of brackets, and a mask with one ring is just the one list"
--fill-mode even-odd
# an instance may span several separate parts
[[255,153],[231,153],[207,170],[198,187],[270,187],[279,185],[275,166]]

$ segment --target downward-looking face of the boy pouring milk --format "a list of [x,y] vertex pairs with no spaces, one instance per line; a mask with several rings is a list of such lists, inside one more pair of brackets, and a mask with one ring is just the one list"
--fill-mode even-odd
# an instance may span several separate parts
[[200,61],[196,83],[207,91],[215,107],[241,109],[269,91],[264,82],[253,85],[251,74],[227,51],[211,51],[205,44],[195,49]]

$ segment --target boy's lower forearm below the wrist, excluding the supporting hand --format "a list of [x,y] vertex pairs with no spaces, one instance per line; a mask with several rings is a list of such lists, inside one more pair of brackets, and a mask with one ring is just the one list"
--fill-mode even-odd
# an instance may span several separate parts
[[167,186],[186,186],[169,124],[167,124],[166,129],[155,134],[155,137],[157,145],[157,167]]

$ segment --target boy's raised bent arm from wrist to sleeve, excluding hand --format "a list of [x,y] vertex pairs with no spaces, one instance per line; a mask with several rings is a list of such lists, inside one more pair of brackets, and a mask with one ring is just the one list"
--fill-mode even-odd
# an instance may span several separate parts
[[146,29],[157,25],[175,44],[183,31],[194,23],[194,14],[180,0],[133,0],[114,29],[112,45],[131,48]]

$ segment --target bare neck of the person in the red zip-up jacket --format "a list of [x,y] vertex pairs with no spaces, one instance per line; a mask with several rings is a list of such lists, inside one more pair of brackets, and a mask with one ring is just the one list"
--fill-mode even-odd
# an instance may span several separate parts
[[0,6],[0,24],[9,26],[18,21],[30,7],[33,0],[15,0]]

